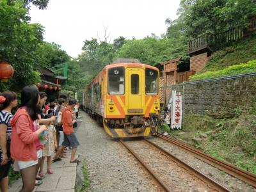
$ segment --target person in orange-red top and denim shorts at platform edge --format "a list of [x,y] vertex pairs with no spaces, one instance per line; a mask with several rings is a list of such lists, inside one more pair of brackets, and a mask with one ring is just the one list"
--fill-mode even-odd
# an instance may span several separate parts
[[68,106],[63,109],[62,112],[62,126],[64,132],[64,141],[61,146],[58,148],[55,156],[52,159],[52,162],[60,161],[60,154],[63,151],[64,147],[72,147],[70,163],[79,163],[80,161],[76,159],[76,151],[79,145],[77,141],[76,134],[74,133],[73,125],[76,123],[76,120],[72,120],[72,110],[76,104],[76,99],[70,98],[68,99]]

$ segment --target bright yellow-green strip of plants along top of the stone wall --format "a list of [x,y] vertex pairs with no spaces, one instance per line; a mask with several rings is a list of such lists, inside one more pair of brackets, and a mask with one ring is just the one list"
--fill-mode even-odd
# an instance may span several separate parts
[[233,65],[218,71],[208,71],[202,74],[196,74],[191,76],[191,80],[197,79],[210,79],[222,76],[232,76],[236,74],[244,74],[248,72],[256,72],[256,60],[248,61],[248,63],[240,63],[239,65]]

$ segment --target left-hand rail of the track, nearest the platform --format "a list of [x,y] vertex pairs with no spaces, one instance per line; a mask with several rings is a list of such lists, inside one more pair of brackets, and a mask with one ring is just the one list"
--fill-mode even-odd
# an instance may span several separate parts
[[136,159],[138,159],[138,161],[140,161],[140,163],[144,166],[144,168],[154,177],[154,179],[157,180],[157,182],[159,182],[159,184],[161,185],[161,187],[162,187],[164,190],[166,190],[166,191],[168,191],[168,192],[171,191],[171,190],[168,188],[168,186],[166,186],[166,184],[164,184],[164,182],[154,173],[154,171],[153,171],[150,167],[148,167],[148,166],[146,165],[146,163],[145,163],[139,156],[137,156],[136,153],[135,153],[127,144],[125,144],[124,141],[122,141],[122,140],[119,140],[119,141],[120,141],[120,143],[122,143],[122,144],[124,145],[125,148],[127,148],[127,149],[129,150],[129,152],[131,152],[131,154],[132,154],[134,157],[136,157]]

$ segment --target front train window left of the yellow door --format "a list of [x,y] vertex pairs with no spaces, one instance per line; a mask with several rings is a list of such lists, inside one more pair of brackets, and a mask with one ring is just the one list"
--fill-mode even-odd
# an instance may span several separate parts
[[109,95],[124,94],[124,67],[109,68],[108,93]]

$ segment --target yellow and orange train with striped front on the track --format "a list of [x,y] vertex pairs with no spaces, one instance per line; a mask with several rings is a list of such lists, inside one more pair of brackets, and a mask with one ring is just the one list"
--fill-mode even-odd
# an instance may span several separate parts
[[107,65],[86,86],[83,108],[112,138],[156,134],[159,69],[138,62]]

